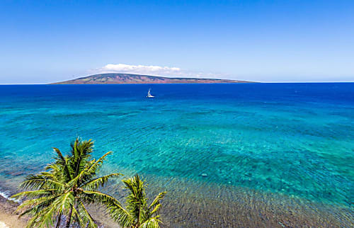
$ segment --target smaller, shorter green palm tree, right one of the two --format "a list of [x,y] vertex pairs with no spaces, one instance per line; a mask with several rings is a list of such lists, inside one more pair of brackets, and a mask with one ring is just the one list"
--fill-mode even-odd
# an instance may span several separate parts
[[110,207],[110,215],[113,220],[122,227],[160,227],[160,200],[164,198],[166,192],[159,193],[152,203],[148,205],[148,199],[145,194],[147,184],[138,175],[122,181],[125,184],[125,188],[130,191],[126,198],[127,210],[122,210],[122,207],[117,207],[116,205]]

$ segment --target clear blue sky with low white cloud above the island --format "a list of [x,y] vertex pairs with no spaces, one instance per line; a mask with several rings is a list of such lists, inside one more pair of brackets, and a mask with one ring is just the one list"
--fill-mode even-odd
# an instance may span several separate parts
[[353,0],[3,0],[0,28],[0,84],[119,71],[354,81]]

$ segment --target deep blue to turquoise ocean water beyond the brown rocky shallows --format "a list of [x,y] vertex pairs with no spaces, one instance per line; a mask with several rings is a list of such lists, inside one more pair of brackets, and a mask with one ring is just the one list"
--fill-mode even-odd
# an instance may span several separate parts
[[[156,98],[145,98],[149,87]],[[171,198],[224,205],[236,200],[224,196],[230,191],[256,190],[344,208],[343,224],[353,222],[354,84],[0,90],[3,192],[51,161],[52,147],[65,152],[80,136],[95,140],[96,156],[114,152],[103,172],[141,173]]]

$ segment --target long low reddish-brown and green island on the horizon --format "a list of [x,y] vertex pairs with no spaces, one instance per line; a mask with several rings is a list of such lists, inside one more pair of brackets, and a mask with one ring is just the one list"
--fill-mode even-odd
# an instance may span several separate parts
[[241,83],[228,79],[198,79],[198,78],[168,78],[164,76],[149,76],[140,74],[95,74],[69,81],[52,84],[172,84],[172,83]]

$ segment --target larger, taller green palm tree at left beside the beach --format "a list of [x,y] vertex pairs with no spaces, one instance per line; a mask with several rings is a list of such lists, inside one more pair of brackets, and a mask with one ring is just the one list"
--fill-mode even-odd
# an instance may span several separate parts
[[120,176],[111,173],[97,177],[108,152],[100,159],[91,159],[93,142],[79,138],[71,144],[71,152],[63,156],[54,148],[55,162],[47,165],[45,171],[30,175],[21,183],[26,191],[13,195],[25,201],[18,206],[20,217],[29,215],[27,227],[59,227],[65,217],[65,227],[74,221],[81,227],[97,227],[86,210],[89,203],[101,203],[116,210],[124,210],[115,198],[101,193],[98,188],[105,186],[110,178]]

